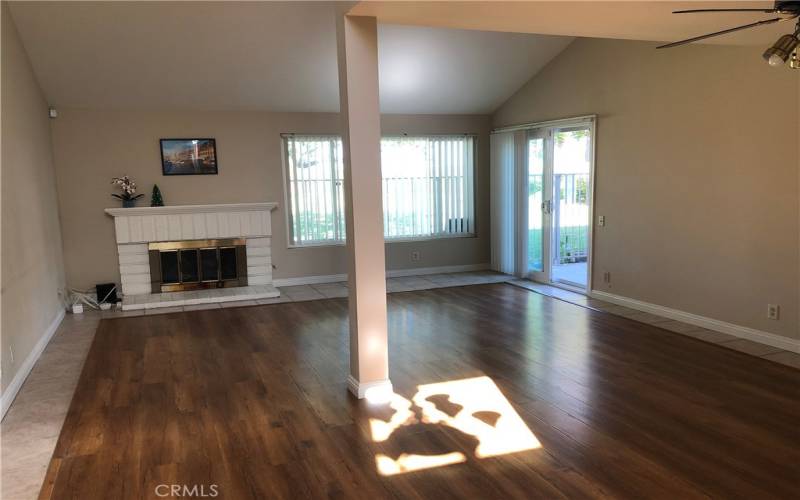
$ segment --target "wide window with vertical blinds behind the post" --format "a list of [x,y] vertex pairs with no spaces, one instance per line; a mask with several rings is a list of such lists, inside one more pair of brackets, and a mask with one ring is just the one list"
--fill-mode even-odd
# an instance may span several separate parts
[[[341,139],[287,135],[284,145],[291,244],[343,242]],[[381,168],[387,240],[475,234],[474,137],[384,137]]]

